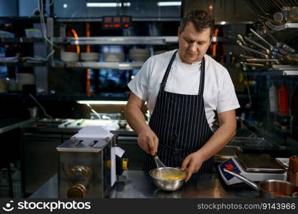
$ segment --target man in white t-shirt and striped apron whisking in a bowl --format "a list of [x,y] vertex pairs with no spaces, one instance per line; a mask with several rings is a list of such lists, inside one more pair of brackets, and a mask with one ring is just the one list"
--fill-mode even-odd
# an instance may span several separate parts
[[[236,132],[239,108],[226,68],[206,54],[214,20],[189,11],[179,30],[179,49],[150,57],[128,86],[125,116],[146,152],[143,170],[156,168],[155,153],[171,167],[193,173],[212,171],[213,156]],[[141,107],[150,112],[147,125]],[[215,115],[219,128],[214,129]]]

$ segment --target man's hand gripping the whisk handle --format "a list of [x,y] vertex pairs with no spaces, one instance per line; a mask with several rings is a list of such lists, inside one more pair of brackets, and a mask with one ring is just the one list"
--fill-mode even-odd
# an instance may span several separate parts
[[154,156],[157,153],[159,138],[151,129],[146,129],[139,133],[138,144],[142,150]]

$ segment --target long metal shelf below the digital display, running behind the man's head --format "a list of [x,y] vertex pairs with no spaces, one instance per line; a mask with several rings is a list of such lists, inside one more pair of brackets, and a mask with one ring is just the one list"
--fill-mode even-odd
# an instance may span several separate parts
[[[212,42],[229,42],[227,37],[213,37]],[[163,45],[177,44],[178,36],[93,36],[93,37],[54,37],[56,44],[71,45],[91,45],[91,44],[145,44],[145,45]]]

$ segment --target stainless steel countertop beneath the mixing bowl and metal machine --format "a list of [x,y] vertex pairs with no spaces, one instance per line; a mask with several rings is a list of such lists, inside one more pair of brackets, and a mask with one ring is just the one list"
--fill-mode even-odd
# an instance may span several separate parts
[[[108,198],[257,198],[259,193],[249,187],[224,188],[217,173],[192,176],[181,189],[165,192],[155,187],[148,173],[124,171],[109,191]],[[58,198],[57,175],[36,190],[30,198]]]

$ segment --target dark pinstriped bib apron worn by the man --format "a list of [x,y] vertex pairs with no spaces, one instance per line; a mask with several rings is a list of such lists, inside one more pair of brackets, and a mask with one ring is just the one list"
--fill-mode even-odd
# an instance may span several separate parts
[[[181,167],[184,158],[198,151],[211,138],[213,132],[207,122],[204,109],[204,72],[202,58],[201,80],[198,95],[185,95],[164,91],[167,78],[177,51],[173,54],[164,78],[160,84],[157,102],[149,121],[149,126],[159,138],[158,156],[162,163],[171,167]],[[211,172],[213,158],[204,161],[198,173]],[[151,155],[146,154],[143,170],[157,168]]]

